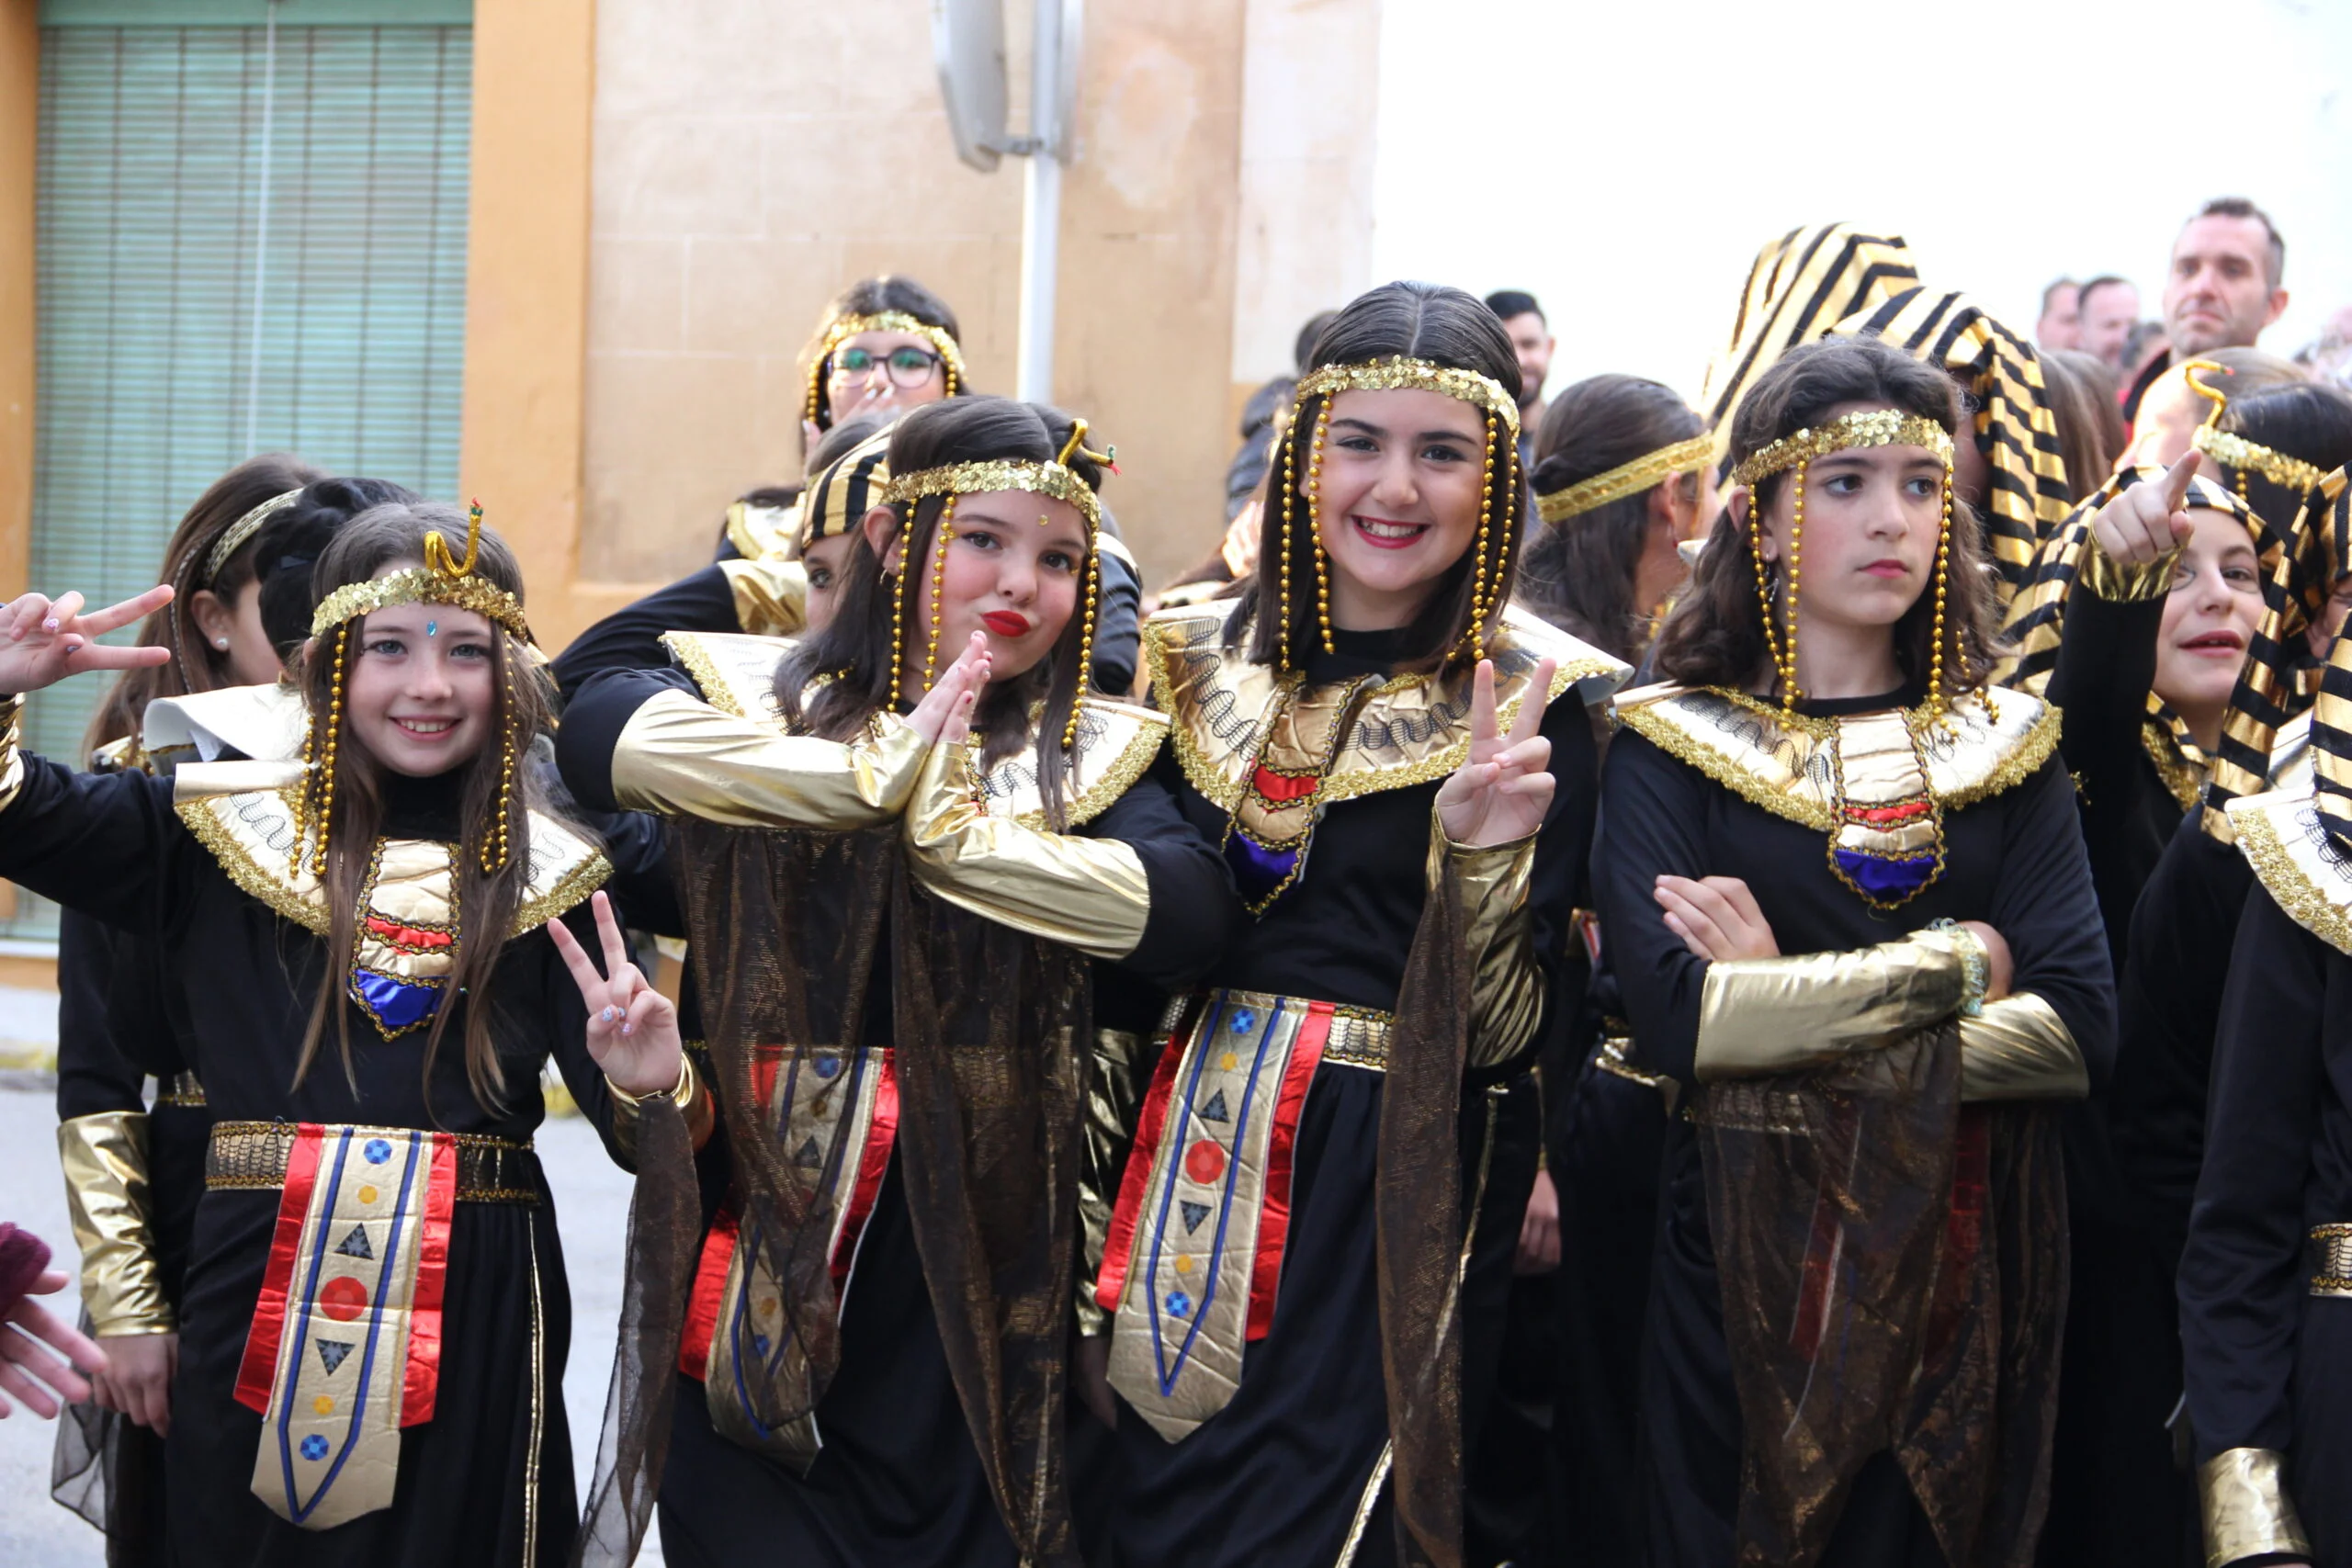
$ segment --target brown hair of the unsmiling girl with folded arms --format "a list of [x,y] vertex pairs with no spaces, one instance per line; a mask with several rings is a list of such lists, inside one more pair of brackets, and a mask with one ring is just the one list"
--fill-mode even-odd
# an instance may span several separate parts
[[[1780,355],[1731,416],[1731,461],[1745,461],[1849,402],[1886,404],[1903,414],[1959,428],[1959,388],[1931,364],[1877,339],[1825,339]],[[1788,473],[1757,482],[1750,505],[1771,508]],[[1933,651],[1936,592],[1929,588],[1893,625],[1896,663],[1924,682]],[[1985,559],[1985,529],[1976,510],[1952,501],[1952,562],[1945,588],[1943,668],[1950,691],[1983,684],[1999,654],[1999,609]],[[1771,672],[1764,616],[1757,607],[1757,564],[1745,529],[1726,505],[1691,588],[1658,630],[1656,668],[1686,686],[1752,689]]]

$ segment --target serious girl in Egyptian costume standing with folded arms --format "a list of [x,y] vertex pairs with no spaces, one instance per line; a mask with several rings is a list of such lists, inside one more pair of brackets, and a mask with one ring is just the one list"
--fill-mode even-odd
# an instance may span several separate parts
[[1595,891],[1672,1077],[1642,1368],[1651,1561],[2011,1563],[2049,1500],[2051,1100],[2112,985],[2056,715],[1992,693],[1947,378],[1790,350],[1621,698]]

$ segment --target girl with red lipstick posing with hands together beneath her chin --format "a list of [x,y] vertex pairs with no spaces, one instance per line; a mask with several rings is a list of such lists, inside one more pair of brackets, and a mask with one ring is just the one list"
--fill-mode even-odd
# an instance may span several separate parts
[[1091,1041],[1237,919],[1150,776],[1167,722],[1082,679],[1084,440],[1002,397],[915,409],[821,635],[670,635],[677,670],[607,670],[564,715],[574,792],[673,823],[731,1175],[699,1225],[682,1152],[640,1166],[630,1293],[668,1316],[619,1373],[593,1561],[628,1561],[656,1490],[673,1563],[1077,1561]]

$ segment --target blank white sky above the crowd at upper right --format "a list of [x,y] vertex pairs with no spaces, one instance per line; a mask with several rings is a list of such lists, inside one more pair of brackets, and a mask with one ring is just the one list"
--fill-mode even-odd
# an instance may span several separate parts
[[1531,289],[1552,390],[1696,397],[1799,223],[1898,233],[2030,334],[2058,273],[2157,317],[2183,216],[2234,193],[2286,237],[2293,353],[2352,303],[2347,78],[2352,0],[1388,0],[1374,273]]

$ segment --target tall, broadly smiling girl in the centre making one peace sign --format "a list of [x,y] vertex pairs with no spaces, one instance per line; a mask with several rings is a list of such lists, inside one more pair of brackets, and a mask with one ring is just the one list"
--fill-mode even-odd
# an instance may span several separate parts
[[1503,1201],[1486,1088],[1576,1011],[1590,705],[1625,675],[1510,604],[1515,423],[1477,299],[1359,296],[1298,383],[1256,581],[1145,625],[1176,797],[1254,924],[1105,1074],[1082,1354],[1117,1394],[1120,1563],[1463,1561],[1491,1380],[1463,1347],[1491,1352],[1534,1175],[1526,1147]]

